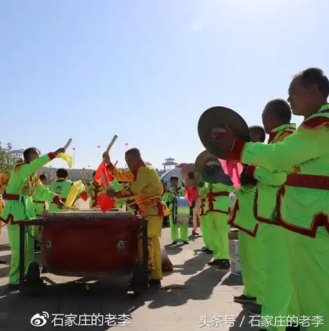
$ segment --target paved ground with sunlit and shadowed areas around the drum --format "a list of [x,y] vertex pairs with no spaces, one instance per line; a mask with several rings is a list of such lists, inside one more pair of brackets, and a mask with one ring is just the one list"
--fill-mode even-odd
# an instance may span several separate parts
[[[9,263],[6,227],[2,232],[0,254]],[[162,243],[167,245],[175,271],[165,276],[163,289],[149,291],[143,298],[125,294],[123,286],[118,284],[115,287],[90,285],[87,290],[85,285],[72,283],[72,278],[54,275],[48,276],[64,284],[49,286],[42,298],[8,294],[5,286],[8,266],[2,266],[0,330],[35,330],[31,317],[42,312],[46,312],[46,317],[49,314],[49,320],[40,330],[54,330],[55,324],[62,323],[70,330],[122,328],[127,315],[130,320],[125,328],[131,331],[193,331],[201,327],[223,331],[258,330],[257,326],[251,328],[246,312],[232,301],[234,295],[241,293],[241,278],[207,266],[210,257],[200,251],[202,237],[192,239],[184,247],[171,247],[169,231],[164,229]]]

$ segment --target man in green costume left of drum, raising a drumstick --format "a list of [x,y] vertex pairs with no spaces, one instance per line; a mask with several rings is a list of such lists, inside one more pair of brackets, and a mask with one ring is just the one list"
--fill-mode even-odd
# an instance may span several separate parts
[[[19,226],[13,224],[13,221],[24,219],[35,219],[35,209],[33,206],[32,196],[37,195],[45,201],[53,201],[58,206],[64,205],[61,198],[48,187],[42,185],[36,171],[42,169],[49,161],[54,160],[58,153],[65,153],[64,148],[59,148],[55,153],[48,153],[40,156],[37,148],[31,147],[24,151],[24,162],[14,165],[10,173],[8,185],[6,187],[7,199],[5,208],[2,212],[2,219],[8,221],[8,237],[11,249],[11,262],[9,271],[10,289],[17,289],[19,282]],[[26,272],[30,263],[33,261],[33,236],[32,228],[26,227],[26,250],[25,266]]]

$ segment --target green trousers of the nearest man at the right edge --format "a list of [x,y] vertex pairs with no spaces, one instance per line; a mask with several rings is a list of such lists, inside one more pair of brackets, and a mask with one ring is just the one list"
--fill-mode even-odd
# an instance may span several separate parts
[[[293,293],[296,294],[297,314],[309,316],[310,320],[301,319],[302,331],[329,330],[329,235],[324,227],[318,228],[316,238],[284,232],[287,239]],[[296,311],[296,308],[295,308]],[[319,323],[321,320],[321,323]],[[310,325],[308,323],[310,322]],[[319,325],[316,324],[319,323]]]

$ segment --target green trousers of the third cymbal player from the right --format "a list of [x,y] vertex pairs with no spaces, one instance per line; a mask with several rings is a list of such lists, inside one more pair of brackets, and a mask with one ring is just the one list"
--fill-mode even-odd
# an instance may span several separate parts
[[257,236],[251,237],[246,232],[239,231],[239,258],[244,285],[243,294],[257,298],[257,302],[261,305],[265,282],[262,257],[259,238]]

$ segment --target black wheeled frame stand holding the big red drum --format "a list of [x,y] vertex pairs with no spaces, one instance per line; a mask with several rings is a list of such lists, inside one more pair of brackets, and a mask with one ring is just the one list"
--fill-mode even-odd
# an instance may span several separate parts
[[[45,221],[43,219],[34,219],[28,221],[12,221],[13,224],[19,226],[19,290],[27,290],[30,294],[38,294],[45,285],[46,280],[51,285],[56,283],[47,277],[40,277],[40,267],[38,262],[31,262],[29,270],[25,276],[25,235],[26,226],[42,226]],[[147,246],[147,220],[145,219],[141,225],[142,234],[142,251],[143,259],[141,262],[136,262],[133,268],[133,280],[131,281],[130,290],[135,296],[140,296],[147,291],[148,285],[148,246]]]

